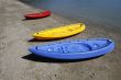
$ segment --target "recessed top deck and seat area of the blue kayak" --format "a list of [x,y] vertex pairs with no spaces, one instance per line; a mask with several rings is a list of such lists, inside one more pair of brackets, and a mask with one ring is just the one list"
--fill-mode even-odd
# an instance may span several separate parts
[[48,53],[86,53],[106,47],[110,43],[108,41],[86,41],[86,42],[69,42],[63,44],[54,44],[46,46],[36,46],[36,50]]

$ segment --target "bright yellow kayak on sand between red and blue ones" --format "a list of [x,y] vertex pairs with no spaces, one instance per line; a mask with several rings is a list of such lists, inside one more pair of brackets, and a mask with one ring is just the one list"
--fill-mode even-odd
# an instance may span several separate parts
[[63,38],[78,34],[82,32],[85,28],[86,28],[85,24],[76,23],[76,24],[44,30],[34,33],[33,36],[36,39],[56,39],[56,38]]

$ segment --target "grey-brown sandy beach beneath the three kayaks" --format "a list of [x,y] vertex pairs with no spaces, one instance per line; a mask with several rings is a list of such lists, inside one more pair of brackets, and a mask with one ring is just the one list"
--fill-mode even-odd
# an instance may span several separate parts
[[[19,0],[0,0],[0,80],[121,80],[121,28],[77,21],[52,14],[45,19],[24,20],[24,14],[43,11]],[[58,41],[34,41],[31,34],[51,27],[84,22],[86,31]],[[116,42],[112,53],[78,61],[41,58],[28,50],[32,45],[52,42],[108,37]]]

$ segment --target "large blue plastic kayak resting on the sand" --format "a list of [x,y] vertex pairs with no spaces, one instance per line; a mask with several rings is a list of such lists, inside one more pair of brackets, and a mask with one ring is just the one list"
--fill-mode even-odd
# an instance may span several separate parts
[[29,48],[37,56],[54,59],[86,59],[108,54],[113,49],[114,42],[108,38],[67,41]]

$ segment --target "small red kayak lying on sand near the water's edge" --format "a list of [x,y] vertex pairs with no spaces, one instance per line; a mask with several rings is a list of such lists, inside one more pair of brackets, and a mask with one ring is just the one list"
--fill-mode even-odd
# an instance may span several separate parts
[[46,18],[51,15],[51,11],[44,11],[41,13],[31,13],[31,14],[26,14],[25,18],[26,19],[42,19],[42,18]]

